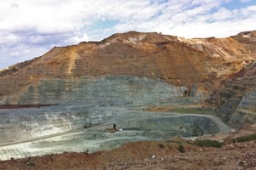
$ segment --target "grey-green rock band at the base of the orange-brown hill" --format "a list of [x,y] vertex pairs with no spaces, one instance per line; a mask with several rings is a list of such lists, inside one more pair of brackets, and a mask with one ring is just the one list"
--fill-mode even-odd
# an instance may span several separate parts
[[[197,87],[177,87],[160,79],[132,76],[79,77],[78,79],[44,79],[20,94],[18,103],[63,104],[95,103],[99,105],[184,104],[201,100]],[[183,97],[189,91],[189,97]]]

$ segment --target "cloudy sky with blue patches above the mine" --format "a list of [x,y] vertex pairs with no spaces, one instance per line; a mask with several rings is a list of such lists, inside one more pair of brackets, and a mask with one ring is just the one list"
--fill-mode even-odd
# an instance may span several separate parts
[[114,33],[230,37],[256,30],[256,0],[1,0],[0,69]]

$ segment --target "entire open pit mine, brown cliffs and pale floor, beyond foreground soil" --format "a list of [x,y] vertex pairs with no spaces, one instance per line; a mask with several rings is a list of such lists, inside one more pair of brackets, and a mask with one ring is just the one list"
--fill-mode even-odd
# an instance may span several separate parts
[[52,48],[0,71],[0,160],[236,131],[256,122],[255,60],[256,31]]

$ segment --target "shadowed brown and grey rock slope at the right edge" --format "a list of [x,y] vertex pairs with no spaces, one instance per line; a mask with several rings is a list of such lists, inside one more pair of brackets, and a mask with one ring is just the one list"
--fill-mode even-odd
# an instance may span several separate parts
[[212,95],[218,105],[216,113],[233,127],[256,120],[256,62],[224,82]]

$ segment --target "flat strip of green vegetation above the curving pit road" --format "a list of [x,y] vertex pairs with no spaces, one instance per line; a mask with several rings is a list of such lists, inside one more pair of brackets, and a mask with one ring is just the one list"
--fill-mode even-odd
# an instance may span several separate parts
[[172,109],[172,112],[176,113],[191,113],[191,114],[201,114],[201,115],[213,115],[214,110],[213,108],[186,108],[186,107],[179,107],[176,109]]

